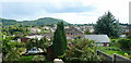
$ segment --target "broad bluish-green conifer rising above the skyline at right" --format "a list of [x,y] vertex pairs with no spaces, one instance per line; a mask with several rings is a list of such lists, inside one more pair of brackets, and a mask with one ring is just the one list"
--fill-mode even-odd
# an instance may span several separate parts
[[110,12],[107,12],[98,18],[97,24],[95,25],[95,33],[117,38],[121,34],[119,21],[116,20]]

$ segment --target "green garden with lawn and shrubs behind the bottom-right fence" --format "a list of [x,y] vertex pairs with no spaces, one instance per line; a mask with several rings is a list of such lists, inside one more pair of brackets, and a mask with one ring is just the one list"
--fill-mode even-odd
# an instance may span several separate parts
[[131,59],[131,39],[119,38],[111,39],[109,47],[99,47],[99,50],[106,52],[109,55],[114,53]]

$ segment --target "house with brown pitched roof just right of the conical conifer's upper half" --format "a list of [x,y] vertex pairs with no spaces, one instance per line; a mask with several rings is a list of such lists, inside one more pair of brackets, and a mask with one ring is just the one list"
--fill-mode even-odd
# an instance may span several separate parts
[[76,38],[76,36],[83,37],[83,33],[74,28],[73,26],[66,28],[66,35],[67,35],[67,39],[74,39]]

